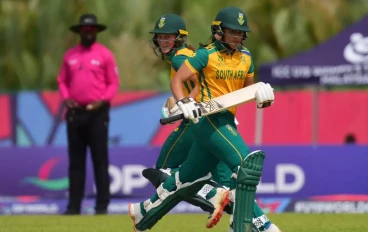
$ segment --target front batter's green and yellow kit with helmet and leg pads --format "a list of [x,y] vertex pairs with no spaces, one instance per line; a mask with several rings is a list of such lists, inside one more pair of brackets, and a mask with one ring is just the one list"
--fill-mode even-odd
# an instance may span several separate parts
[[[215,28],[216,32],[213,30],[213,33],[222,33],[221,27],[245,33],[250,31],[245,13],[236,7],[222,9],[215,20],[216,24],[213,25],[217,25],[218,28]],[[254,76],[254,64],[249,50],[242,45],[236,50],[229,50],[218,40],[198,49],[194,56],[185,60],[183,65],[198,76],[200,85],[196,98],[198,102],[241,89],[245,86],[247,78]],[[207,181],[208,173],[216,168],[216,175],[213,176],[215,180],[217,178],[219,183],[227,182],[230,189],[236,187],[236,198],[239,201],[235,201],[234,226],[238,231],[240,231],[239,228],[244,231],[245,225],[249,231],[249,225],[252,223],[252,209],[253,219],[257,220],[264,215],[257,204],[252,207],[264,154],[256,151],[250,155],[248,146],[237,131],[234,122],[235,113],[234,107],[204,116],[196,124],[190,121],[187,131],[191,132],[194,142],[188,157],[181,164],[178,173],[168,177],[160,186],[160,190],[145,201],[147,206],[152,204],[152,208],[146,208],[145,202],[139,203],[143,218],[135,224],[137,229],[151,228],[182,200],[183,196],[194,195],[198,187]],[[247,156],[249,159],[245,159]],[[238,178],[231,178],[231,174],[237,174]],[[208,196],[210,193],[207,194],[207,199],[211,198]],[[268,226],[267,220],[267,225],[266,222],[262,223],[261,230],[264,231]]]

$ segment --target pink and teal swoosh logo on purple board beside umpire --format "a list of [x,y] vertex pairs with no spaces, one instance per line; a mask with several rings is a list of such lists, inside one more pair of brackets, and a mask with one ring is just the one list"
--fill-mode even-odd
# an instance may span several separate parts
[[38,170],[38,176],[29,176],[22,180],[23,183],[31,184],[41,189],[61,191],[66,190],[69,186],[68,177],[50,179],[50,173],[56,164],[60,163],[60,158],[52,158],[41,165]]

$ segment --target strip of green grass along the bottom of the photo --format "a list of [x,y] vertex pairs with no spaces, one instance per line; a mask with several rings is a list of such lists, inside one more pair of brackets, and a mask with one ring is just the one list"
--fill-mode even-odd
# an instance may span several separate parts
[[[273,214],[270,219],[284,232],[368,231],[364,214]],[[205,227],[207,214],[170,214],[152,232],[227,232],[229,216],[213,229]],[[128,215],[108,216],[0,216],[0,232],[129,232]]]

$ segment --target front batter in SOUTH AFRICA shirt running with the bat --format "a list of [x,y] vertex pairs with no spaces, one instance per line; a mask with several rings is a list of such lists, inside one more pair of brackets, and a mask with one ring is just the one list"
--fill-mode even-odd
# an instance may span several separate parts
[[[181,165],[175,177],[170,176],[150,199],[129,207],[135,229],[139,231],[151,228],[183,196],[195,194],[211,178],[209,173],[220,161],[233,173],[229,198],[235,202],[235,207],[229,231],[233,231],[233,227],[235,231],[251,229],[255,191],[262,174],[265,155],[262,151],[249,153],[249,148],[234,124],[235,107],[201,118],[200,110],[195,104],[196,101],[208,101],[253,83],[253,60],[249,50],[242,46],[250,29],[245,13],[236,7],[222,9],[211,29],[213,43],[198,49],[171,80],[176,104],[185,118],[192,121],[190,131],[195,141],[188,159]],[[196,101],[186,97],[182,89],[182,83],[190,80],[193,75],[198,75],[197,81],[200,85]],[[257,90],[256,102],[258,108],[273,104],[274,94],[269,84]],[[214,212],[221,217],[222,212],[216,210],[222,209],[215,209]],[[261,210],[259,213],[263,215]],[[213,226],[219,219],[217,216],[209,217],[207,225]],[[262,231],[280,231],[267,217],[259,217],[258,220]]]

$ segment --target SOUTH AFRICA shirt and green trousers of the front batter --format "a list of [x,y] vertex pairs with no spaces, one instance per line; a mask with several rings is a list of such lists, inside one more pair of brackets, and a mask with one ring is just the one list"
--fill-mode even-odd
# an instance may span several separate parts
[[[243,88],[246,78],[254,75],[254,64],[248,49],[239,47],[230,54],[218,41],[198,49],[195,56],[187,59],[184,65],[199,75],[200,91],[196,100],[201,102]],[[241,161],[249,154],[249,148],[237,132],[235,112],[236,108],[231,108],[191,124],[195,142],[188,160],[180,168],[180,180],[192,182],[205,176],[220,161],[232,172],[237,172]],[[198,169],[195,163],[206,165]]]

